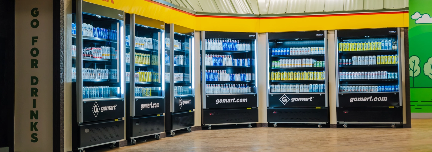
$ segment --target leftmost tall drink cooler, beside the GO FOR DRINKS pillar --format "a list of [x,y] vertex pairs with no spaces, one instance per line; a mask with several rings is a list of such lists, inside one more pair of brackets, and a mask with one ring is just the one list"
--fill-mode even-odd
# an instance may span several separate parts
[[72,149],[124,139],[124,11],[82,0],[72,15]]

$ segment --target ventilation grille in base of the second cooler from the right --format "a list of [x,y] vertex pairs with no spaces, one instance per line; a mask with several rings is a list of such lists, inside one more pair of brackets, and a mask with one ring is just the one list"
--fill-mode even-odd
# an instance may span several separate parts
[[295,112],[295,111],[278,111],[278,120],[320,120],[317,115],[319,112]]

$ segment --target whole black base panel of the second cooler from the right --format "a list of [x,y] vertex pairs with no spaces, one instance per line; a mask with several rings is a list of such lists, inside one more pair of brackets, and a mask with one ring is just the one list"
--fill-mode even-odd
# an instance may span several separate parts
[[329,122],[327,108],[267,108],[268,122]]

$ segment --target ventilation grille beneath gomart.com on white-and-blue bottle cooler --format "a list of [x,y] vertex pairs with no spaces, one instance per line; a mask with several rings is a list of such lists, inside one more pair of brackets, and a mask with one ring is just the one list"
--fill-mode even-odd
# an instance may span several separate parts
[[215,113],[214,121],[252,121],[252,112],[226,112],[226,113]]

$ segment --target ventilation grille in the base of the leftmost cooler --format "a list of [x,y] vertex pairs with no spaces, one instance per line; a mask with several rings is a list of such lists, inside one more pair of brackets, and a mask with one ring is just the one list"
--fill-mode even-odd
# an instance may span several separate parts
[[120,126],[101,127],[91,129],[90,142],[95,142],[104,139],[111,139],[120,136]]

